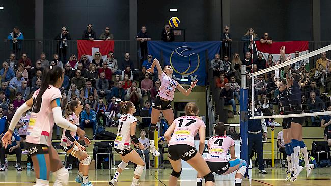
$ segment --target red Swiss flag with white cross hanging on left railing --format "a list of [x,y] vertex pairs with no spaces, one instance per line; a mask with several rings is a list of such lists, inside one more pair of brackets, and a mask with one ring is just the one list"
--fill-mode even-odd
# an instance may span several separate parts
[[77,40],[78,60],[82,55],[87,55],[90,61],[95,52],[100,52],[102,59],[107,59],[109,51],[114,52],[114,40]]

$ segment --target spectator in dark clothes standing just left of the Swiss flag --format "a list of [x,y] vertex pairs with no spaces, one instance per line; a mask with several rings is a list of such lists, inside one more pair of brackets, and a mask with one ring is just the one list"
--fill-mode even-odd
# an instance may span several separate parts
[[[58,40],[57,53],[62,61],[67,61],[67,40],[71,40],[70,34],[66,27],[62,27],[61,33],[55,37]],[[61,67],[62,68],[62,67]]]

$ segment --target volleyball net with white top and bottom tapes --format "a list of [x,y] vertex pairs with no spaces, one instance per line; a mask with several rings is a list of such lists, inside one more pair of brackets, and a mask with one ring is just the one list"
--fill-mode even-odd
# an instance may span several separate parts
[[[246,77],[249,99],[263,113],[253,112],[250,119],[307,117],[314,122],[315,116],[331,115],[331,61],[327,54],[331,55],[331,45],[295,58],[286,54],[286,60],[280,57],[277,65],[263,70],[257,69],[259,64],[252,65],[253,71],[247,68],[252,72]],[[293,112],[293,108],[302,112]]]

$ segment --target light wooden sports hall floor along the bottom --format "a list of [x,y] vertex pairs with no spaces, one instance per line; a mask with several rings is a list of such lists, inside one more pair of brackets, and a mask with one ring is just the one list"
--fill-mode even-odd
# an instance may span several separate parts
[[[130,165],[129,165],[130,166]],[[128,167],[129,167],[128,166]],[[171,174],[171,169],[146,170],[140,179],[140,185],[168,185],[168,178]],[[266,168],[268,174],[258,174],[258,169],[249,169],[250,178],[244,178],[242,185],[330,185],[331,183],[331,168],[317,168],[313,170],[312,175],[306,178],[306,171],[302,171],[299,178],[294,182],[286,182],[285,169],[281,168]],[[114,175],[115,170],[90,170],[89,179],[94,185],[108,185],[108,181]],[[120,176],[118,186],[130,185],[132,181],[133,168],[126,169]],[[79,185],[74,181],[77,176],[77,169],[70,171],[70,185]],[[215,185],[234,185],[234,174],[226,176],[215,176]],[[50,185],[53,184],[53,177],[50,176]],[[8,171],[0,172],[0,185],[34,185],[34,171],[16,171],[13,166],[9,167]],[[196,185],[196,171],[183,170],[178,185]]]

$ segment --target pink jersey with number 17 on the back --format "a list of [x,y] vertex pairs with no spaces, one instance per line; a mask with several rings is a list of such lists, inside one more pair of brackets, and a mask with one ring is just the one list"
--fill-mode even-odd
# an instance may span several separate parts
[[174,120],[175,130],[168,146],[186,144],[194,147],[194,137],[200,127],[206,128],[202,119],[196,116],[181,116]]

